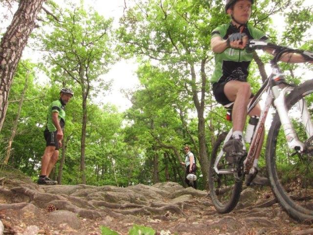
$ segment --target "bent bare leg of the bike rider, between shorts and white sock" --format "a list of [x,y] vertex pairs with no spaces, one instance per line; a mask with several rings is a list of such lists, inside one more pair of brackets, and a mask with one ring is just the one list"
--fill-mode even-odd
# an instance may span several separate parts
[[229,81],[224,86],[224,94],[234,101],[232,111],[233,131],[243,131],[246,124],[246,107],[251,96],[250,84],[241,81]]

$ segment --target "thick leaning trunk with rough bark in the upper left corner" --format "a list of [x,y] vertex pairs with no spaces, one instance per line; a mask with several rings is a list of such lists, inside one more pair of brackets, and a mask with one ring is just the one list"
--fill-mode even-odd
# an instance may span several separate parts
[[0,132],[8,108],[12,79],[45,0],[22,0],[0,43]]

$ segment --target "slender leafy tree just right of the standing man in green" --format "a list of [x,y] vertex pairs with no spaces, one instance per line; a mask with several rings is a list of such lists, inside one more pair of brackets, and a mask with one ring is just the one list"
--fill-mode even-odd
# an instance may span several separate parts
[[[105,91],[109,84],[100,75],[108,71],[113,62],[111,27],[112,20],[106,20],[93,9],[87,12],[82,6],[64,9],[58,6],[49,16],[52,32],[41,32],[42,47],[48,52],[46,62],[53,67],[52,76],[66,84],[77,83],[82,95],[82,128],[80,171],[82,182],[86,183],[86,128],[88,98],[90,92]],[[98,89],[96,89],[98,87]]]

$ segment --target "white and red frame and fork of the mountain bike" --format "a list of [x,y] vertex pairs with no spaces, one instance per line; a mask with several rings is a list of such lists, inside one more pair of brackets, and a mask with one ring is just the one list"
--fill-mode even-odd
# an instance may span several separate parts
[[[251,44],[252,43],[252,44]],[[262,41],[257,40],[251,40],[250,41],[250,48],[256,47],[256,48],[262,48],[267,47],[269,44]],[[294,149],[295,151],[301,153],[305,150],[305,143],[299,141],[293,127],[291,124],[291,120],[288,116],[288,108],[285,105],[285,98],[286,94],[289,94],[294,87],[290,84],[285,82],[284,74],[280,71],[277,65],[277,61],[280,58],[280,56],[284,53],[284,50],[280,51],[280,53],[276,54],[276,56],[271,60],[271,74],[264,82],[263,86],[260,88],[260,90],[257,92],[257,94],[252,98],[250,103],[247,107],[247,113],[249,113],[255,105],[260,101],[262,94],[267,94],[267,99],[265,101],[265,107],[261,112],[261,116],[259,119],[259,122],[256,126],[255,133],[253,135],[253,138],[250,143],[250,147],[247,153],[246,160],[244,161],[244,173],[247,174],[250,170],[250,168],[253,165],[253,161],[255,158],[255,154],[257,151],[258,143],[260,142],[262,137],[262,132],[264,130],[265,121],[268,115],[269,108],[272,103],[274,103],[275,109],[278,112],[281,125],[283,127],[286,140],[288,141],[288,146],[291,149]],[[306,134],[309,137],[313,136],[313,122],[310,118],[310,114],[308,111],[308,107],[306,104],[306,101],[304,99],[300,100],[297,104],[297,107],[300,110],[301,118],[302,118],[302,124],[305,127]],[[230,139],[232,136],[231,128],[228,132],[224,143]],[[245,147],[245,141],[243,138],[243,146]],[[223,149],[219,152],[216,161],[214,163],[214,170],[217,174],[232,174],[235,173],[236,169],[218,169],[218,163],[223,157],[224,152]]]

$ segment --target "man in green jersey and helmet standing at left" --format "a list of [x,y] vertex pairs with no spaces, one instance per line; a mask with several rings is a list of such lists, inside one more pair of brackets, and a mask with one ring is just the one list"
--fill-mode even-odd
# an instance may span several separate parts
[[37,181],[39,185],[57,184],[56,181],[49,179],[49,174],[59,158],[59,148],[62,146],[65,125],[65,105],[73,95],[71,89],[62,88],[60,99],[53,101],[48,107],[47,125],[44,132],[46,147]]

